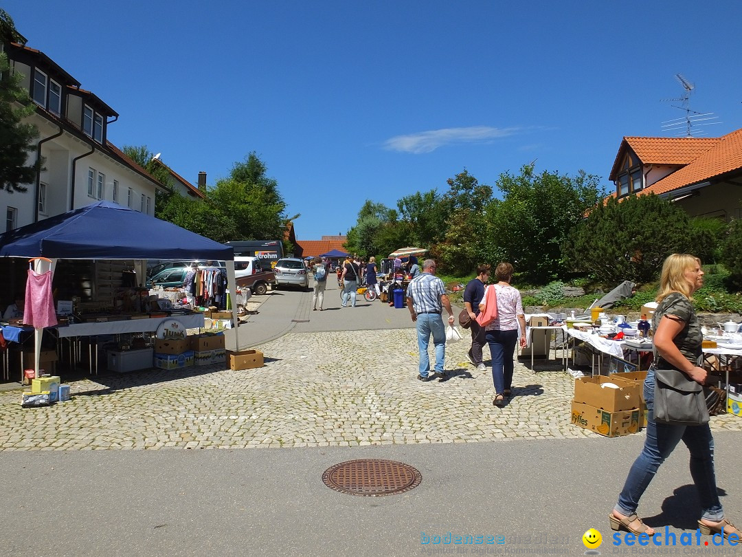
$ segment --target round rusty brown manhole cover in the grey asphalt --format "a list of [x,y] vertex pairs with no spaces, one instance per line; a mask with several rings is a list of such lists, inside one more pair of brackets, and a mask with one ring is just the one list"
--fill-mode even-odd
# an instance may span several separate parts
[[402,462],[364,458],[329,467],[322,475],[322,481],[341,493],[378,497],[410,491],[420,485],[422,475]]

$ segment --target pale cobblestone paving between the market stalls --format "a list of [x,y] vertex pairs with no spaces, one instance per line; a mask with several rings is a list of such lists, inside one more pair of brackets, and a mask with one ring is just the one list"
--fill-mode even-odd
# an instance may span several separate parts
[[[490,370],[476,371],[467,362],[467,339],[447,348],[447,377],[430,382],[416,379],[413,328],[289,333],[259,348],[266,355],[263,368],[107,374],[73,382],[72,400],[48,408],[21,408],[21,391],[5,391],[0,450],[597,437],[571,425],[574,380],[562,371],[533,373],[516,362],[514,397],[505,408],[494,407]],[[712,429],[739,431],[742,420],[714,417]]]

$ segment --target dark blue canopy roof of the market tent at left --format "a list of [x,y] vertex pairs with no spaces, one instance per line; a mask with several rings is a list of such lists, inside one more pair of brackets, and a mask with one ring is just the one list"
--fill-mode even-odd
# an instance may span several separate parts
[[0,235],[0,257],[214,259],[234,249],[134,209],[98,201]]

